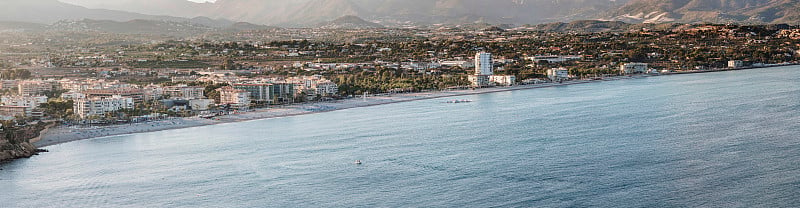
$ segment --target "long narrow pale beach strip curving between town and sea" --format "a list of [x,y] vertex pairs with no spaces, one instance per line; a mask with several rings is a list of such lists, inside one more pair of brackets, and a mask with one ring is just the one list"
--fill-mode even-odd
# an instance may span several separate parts
[[782,66],[792,66],[792,65],[796,64],[737,68],[737,69],[684,71],[684,72],[674,72],[661,75],[614,76],[614,77],[605,77],[599,80],[571,80],[571,81],[565,81],[563,83],[550,82],[550,83],[532,84],[532,85],[515,85],[510,87],[480,88],[475,90],[466,89],[466,90],[429,91],[429,92],[417,92],[417,93],[406,93],[406,94],[386,94],[386,95],[367,97],[367,99],[351,98],[351,99],[337,100],[332,102],[302,103],[302,104],[282,106],[278,108],[257,109],[254,111],[248,111],[239,114],[218,116],[213,120],[197,118],[197,117],[170,118],[160,121],[112,125],[105,127],[93,127],[88,129],[87,128],[79,129],[66,126],[53,126],[51,128],[48,128],[47,131],[43,131],[38,138],[39,140],[32,143],[37,148],[43,148],[47,146],[53,146],[53,145],[64,144],[86,139],[93,139],[93,138],[103,138],[110,136],[150,133],[150,132],[159,132],[167,130],[227,124],[227,123],[310,115],[315,113],[325,113],[325,112],[340,111],[353,108],[363,108],[363,107],[404,103],[404,102],[412,102],[420,100],[569,86],[569,85],[587,84],[596,82],[617,81],[624,79],[647,78],[653,76],[725,72],[725,71],[760,69],[760,68],[782,67]]

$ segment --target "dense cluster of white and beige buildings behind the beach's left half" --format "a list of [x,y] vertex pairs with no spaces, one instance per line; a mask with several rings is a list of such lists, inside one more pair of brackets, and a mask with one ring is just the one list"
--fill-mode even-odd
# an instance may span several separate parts
[[[338,94],[338,85],[319,75],[247,79],[212,74],[194,81],[197,80],[225,83],[227,86],[216,89],[219,98],[215,100],[207,97],[204,86],[139,86],[116,80],[86,78],[2,80],[0,89],[11,89],[14,93],[0,97],[0,120],[43,117],[45,115],[39,107],[49,99],[71,100],[74,114],[81,119],[90,119],[134,108],[162,108],[174,112],[195,113],[214,107],[249,110],[253,104],[293,103],[298,99],[318,99]],[[60,92],[60,96],[47,97],[57,94],[54,92]]]

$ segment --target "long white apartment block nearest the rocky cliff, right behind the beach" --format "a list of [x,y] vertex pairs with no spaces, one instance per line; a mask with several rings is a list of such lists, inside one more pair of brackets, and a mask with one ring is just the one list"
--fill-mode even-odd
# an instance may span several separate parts
[[106,113],[134,107],[133,98],[113,96],[109,98],[79,99],[72,106],[76,115],[81,118],[103,116]]

